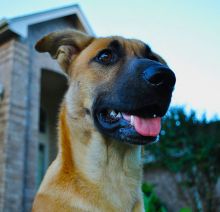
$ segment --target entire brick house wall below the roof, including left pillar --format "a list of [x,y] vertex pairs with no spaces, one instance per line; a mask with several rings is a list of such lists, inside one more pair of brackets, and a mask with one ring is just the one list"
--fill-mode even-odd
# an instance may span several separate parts
[[[28,38],[0,44],[0,211],[31,211],[37,191],[39,108],[42,71],[62,73],[34,45],[44,35],[82,28],[76,16],[32,25]],[[55,123],[54,123],[55,124]]]

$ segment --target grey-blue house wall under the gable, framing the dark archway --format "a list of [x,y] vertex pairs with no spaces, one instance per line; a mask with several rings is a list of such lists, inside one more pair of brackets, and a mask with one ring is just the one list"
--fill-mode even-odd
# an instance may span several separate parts
[[43,22],[29,27],[28,46],[30,55],[30,78],[28,94],[28,137],[26,174],[25,174],[25,211],[30,211],[33,198],[37,191],[37,165],[38,165],[38,144],[39,144],[39,107],[40,107],[40,82],[43,70],[50,70],[62,73],[57,62],[49,54],[39,54],[34,49],[36,42],[44,35],[66,28],[76,28],[77,22],[73,18],[64,17],[52,21]]

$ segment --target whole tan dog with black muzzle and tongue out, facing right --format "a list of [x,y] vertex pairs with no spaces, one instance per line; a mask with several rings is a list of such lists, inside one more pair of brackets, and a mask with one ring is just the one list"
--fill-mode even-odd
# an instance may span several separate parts
[[33,211],[144,211],[141,145],[158,140],[175,85],[145,43],[54,32],[36,44],[69,79],[59,151]]

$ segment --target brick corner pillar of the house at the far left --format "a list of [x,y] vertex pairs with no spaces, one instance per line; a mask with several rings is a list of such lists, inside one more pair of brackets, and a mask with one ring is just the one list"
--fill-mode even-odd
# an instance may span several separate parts
[[0,47],[0,209],[22,211],[27,129],[28,48],[11,40]]

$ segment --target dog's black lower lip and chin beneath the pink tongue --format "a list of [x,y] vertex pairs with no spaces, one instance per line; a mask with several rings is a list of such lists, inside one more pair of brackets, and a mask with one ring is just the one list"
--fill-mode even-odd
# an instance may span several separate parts
[[[152,120],[153,118],[149,119]],[[129,120],[128,116],[125,117],[123,113],[117,113],[113,110],[94,112],[94,121],[98,130],[104,136],[121,143],[146,145],[159,141],[159,131],[149,134],[139,133],[132,121]]]

